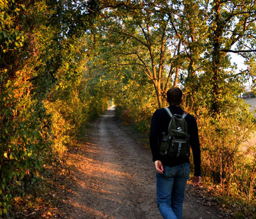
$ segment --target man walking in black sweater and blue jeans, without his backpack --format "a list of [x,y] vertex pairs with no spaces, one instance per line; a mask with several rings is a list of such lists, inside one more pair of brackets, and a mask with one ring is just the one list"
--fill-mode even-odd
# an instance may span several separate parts
[[[167,91],[168,110],[171,114],[183,115],[184,111],[179,105],[182,101],[182,91],[172,87]],[[156,200],[159,211],[164,219],[182,219],[184,191],[189,177],[189,157],[170,157],[160,154],[160,142],[163,133],[168,133],[171,117],[166,109],[156,110],[152,116],[150,127],[150,149],[156,168]],[[201,182],[200,173],[200,144],[198,127],[195,118],[186,114],[189,144],[192,147],[194,159],[195,185]]]

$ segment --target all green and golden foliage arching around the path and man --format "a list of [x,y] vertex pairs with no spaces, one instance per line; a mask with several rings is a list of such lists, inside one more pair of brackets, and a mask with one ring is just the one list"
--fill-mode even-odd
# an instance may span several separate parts
[[[171,84],[183,88],[183,108],[197,117],[205,180],[252,203],[255,149],[243,143],[254,118],[237,97],[249,77],[255,86],[255,7],[0,0],[0,216],[24,180],[58,162],[108,100],[146,133]],[[235,73],[230,52],[247,70]]]

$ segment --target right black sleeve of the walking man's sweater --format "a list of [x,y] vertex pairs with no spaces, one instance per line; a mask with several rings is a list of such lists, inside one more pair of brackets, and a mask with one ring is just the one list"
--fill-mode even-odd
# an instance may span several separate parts
[[190,144],[192,147],[194,167],[195,167],[194,176],[201,176],[200,143],[199,143],[199,137],[198,137],[197,121],[195,121],[194,117],[193,117],[191,123],[192,123],[191,125],[192,125],[193,132],[190,134]]

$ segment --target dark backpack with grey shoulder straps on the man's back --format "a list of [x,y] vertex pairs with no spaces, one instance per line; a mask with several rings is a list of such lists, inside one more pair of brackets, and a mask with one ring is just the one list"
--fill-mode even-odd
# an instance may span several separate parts
[[165,157],[188,158],[190,156],[190,144],[188,125],[185,121],[187,112],[182,115],[174,114],[164,108],[171,117],[168,133],[162,133],[160,142],[160,155]]

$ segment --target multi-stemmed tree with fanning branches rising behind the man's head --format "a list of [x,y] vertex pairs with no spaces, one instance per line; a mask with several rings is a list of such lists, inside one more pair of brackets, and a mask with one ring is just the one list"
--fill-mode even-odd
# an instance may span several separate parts
[[108,9],[103,10],[100,21],[102,35],[110,47],[119,44],[117,53],[127,56],[127,63],[122,65],[138,65],[148,76],[154,85],[158,106],[162,107],[174,73],[174,84],[177,85],[180,57],[184,52],[181,52],[183,41],[174,37],[172,24],[179,10],[176,9],[178,3],[168,5],[164,1],[154,1],[140,4],[138,1],[107,4],[106,7]]

